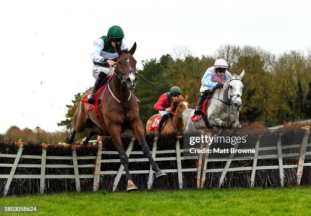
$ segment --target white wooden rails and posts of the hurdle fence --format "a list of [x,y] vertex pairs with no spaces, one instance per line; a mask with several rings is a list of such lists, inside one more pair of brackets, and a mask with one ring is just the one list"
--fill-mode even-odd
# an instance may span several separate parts
[[[310,129],[305,129],[305,134],[302,140],[301,144],[295,144],[290,146],[282,146],[281,145],[281,137],[278,139],[277,146],[276,147],[260,147],[260,137],[256,142],[255,146],[255,154],[253,156],[247,156],[247,157],[239,157],[234,158],[234,154],[231,153],[229,158],[217,158],[212,159],[209,158],[209,154],[199,154],[196,156],[184,156],[183,153],[188,152],[189,149],[181,149],[180,148],[180,137],[177,137],[177,141],[175,143],[175,149],[173,150],[157,150],[157,137],[154,138],[153,141],[153,147],[151,150],[152,158],[157,161],[175,161],[177,164],[176,169],[163,169],[166,173],[177,173],[178,176],[178,188],[183,188],[183,174],[185,172],[196,172],[197,175],[197,188],[203,188],[204,182],[206,180],[206,174],[207,173],[221,173],[220,181],[219,181],[219,187],[223,186],[224,179],[226,177],[226,174],[228,172],[235,172],[235,171],[250,171],[251,172],[251,187],[254,187],[255,182],[255,173],[257,170],[268,170],[268,169],[276,169],[279,170],[279,181],[281,183],[281,187],[284,187],[284,169],[287,168],[296,168],[297,170],[297,185],[300,185],[301,182],[301,176],[303,172],[303,167],[305,166],[311,166],[311,163],[305,163],[305,157],[307,155],[311,155],[311,152],[307,151],[307,147],[311,147],[311,143],[308,143],[308,137],[309,137]],[[135,155],[143,155],[142,151],[132,151],[134,146],[135,138],[132,138],[130,145],[128,149],[126,150],[126,154],[128,157]],[[75,179],[75,185],[76,185],[76,191],[80,192],[80,180],[83,178],[90,178],[93,179],[93,185],[92,190],[98,191],[100,186],[100,178],[102,175],[115,175],[114,183],[112,187],[112,191],[117,190],[117,186],[120,182],[120,178],[123,174],[125,174],[124,167],[120,164],[117,171],[101,171],[101,166],[103,164],[107,163],[120,163],[119,159],[105,159],[105,155],[118,155],[116,151],[106,151],[103,150],[103,142],[101,139],[98,139],[98,152],[96,156],[77,156],[76,149],[78,146],[72,146],[72,156],[47,156],[46,149],[48,145],[42,144],[42,155],[23,155],[23,143],[18,142],[18,152],[17,154],[0,154],[0,158],[14,158],[13,164],[7,164],[2,163],[0,164],[1,167],[11,167],[11,171],[9,174],[2,174],[0,173],[0,178],[5,178],[5,187],[3,195],[7,196],[8,192],[10,190],[10,185],[12,182],[12,179],[40,179],[40,193],[45,192],[45,179],[66,179],[71,178]],[[206,145],[206,144],[205,144]],[[201,148],[204,147],[204,144],[201,143]],[[209,148],[209,145],[206,146],[206,148]],[[238,145],[234,146],[235,149],[238,148]],[[296,148],[298,149],[298,153],[292,153],[292,154],[283,154],[283,150],[289,149],[289,148]],[[258,153],[261,151],[266,150],[277,150],[277,154],[271,154],[271,155],[262,155],[260,156]],[[157,157],[157,155],[175,155],[175,156],[166,156],[166,157]],[[283,159],[289,158],[289,157],[297,157],[298,162],[297,164],[291,164],[291,165],[284,165]],[[19,161],[22,158],[26,159],[40,159],[41,164],[20,164]],[[258,160],[261,159],[277,159],[278,165],[268,165],[268,166],[257,166]],[[71,160],[72,165],[66,165],[66,164],[47,164],[47,160],[53,161],[53,160]],[[92,164],[79,164],[79,161],[81,160],[93,160],[94,163]],[[182,161],[183,160],[197,160],[198,165],[193,165],[192,168],[183,168],[182,167]],[[247,167],[230,167],[232,161],[243,161],[243,160],[253,160],[252,166]],[[129,163],[136,163],[136,162],[148,162],[147,158],[130,158]],[[207,163],[208,162],[226,162],[225,166],[223,168],[215,168],[215,169],[207,169]],[[15,174],[15,171],[17,168],[40,168],[41,174]],[[49,168],[73,168],[74,174],[46,174],[46,170]],[[94,172],[89,174],[79,174],[79,168],[92,168]],[[151,169],[151,166],[148,170],[130,170],[131,174],[148,174],[147,179],[147,189],[152,188],[152,182],[154,179],[154,172]]]

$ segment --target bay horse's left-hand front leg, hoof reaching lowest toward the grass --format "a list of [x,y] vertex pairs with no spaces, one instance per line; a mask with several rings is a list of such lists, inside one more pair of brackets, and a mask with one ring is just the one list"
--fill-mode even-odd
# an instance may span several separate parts
[[121,126],[119,125],[109,125],[108,130],[110,132],[114,147],[119,153],[120,162],[124,166],[124,169],[126,171],[126,177],[127,177],[127,191],[133,191],[137,190],[137,187],[134,185],[132,176],[129,171],[129,157],[127,156],[126,152],[123,149],[122,141],[121,141]]

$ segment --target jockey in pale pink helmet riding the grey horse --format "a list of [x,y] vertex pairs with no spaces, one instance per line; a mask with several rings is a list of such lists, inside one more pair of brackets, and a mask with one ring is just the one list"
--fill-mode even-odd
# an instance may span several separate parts
[[199,102],[194,112],[196,115],[201,114],[202,103],[205,98],[210,96],[211,90],[223,88],[228,79],[226,75],[227,68],[228,64],[225,59],[220,58],[215,61],[214,66],[207,68],[205,71],[201,80]]

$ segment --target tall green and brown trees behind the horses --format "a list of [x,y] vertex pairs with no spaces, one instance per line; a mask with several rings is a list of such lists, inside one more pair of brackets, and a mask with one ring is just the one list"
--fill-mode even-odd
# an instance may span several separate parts
[[[138,73],[154,84],[150,86],[138,78],[135,95],[140,100],[139,112],[144,125],[158,113],[153,109],[154,103],[172,86],[179,86],[194,108],[201,78],[217,58],[228,62],[231,74],[239,75],[245,70],[240,122],[269,127],[311,118],[310,50],[275,55],[260,47],[225,45],[214,55],[195,57],[186,49],[177,49],[173,55],[143,61]],[[81,96],[81,93],[76,94],[72,104],[67,105],[66,119],[58,123],[59,126],[72,127],[72,117]]]

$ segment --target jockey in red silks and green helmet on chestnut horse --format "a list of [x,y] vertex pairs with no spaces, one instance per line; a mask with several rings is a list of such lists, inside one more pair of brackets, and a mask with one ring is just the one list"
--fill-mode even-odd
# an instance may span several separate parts
[[180,88],[178,86],[173,86],[169,92],[163,93],[159,100],[154,104],[154,109],[159,111],[162,116],[159,122],[158,133],[161,132],[163,123],[169,117],[169,112],[171,111],[170,106],[173,98],[179,97],[180,94]]

